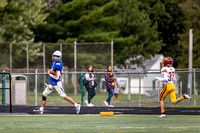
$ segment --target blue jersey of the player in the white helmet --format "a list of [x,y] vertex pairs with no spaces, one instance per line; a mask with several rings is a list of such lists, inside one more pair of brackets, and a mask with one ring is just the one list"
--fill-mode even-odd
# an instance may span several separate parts
[[[54,70],[54,71],[59,70],[60,73],[61,73],[62,72],[62,63],[60,61],[53,62],[51,69]],[[59,82],[59,81],[60,81],[60,76],[59,76],[58,80],[51,77],[49,84],[50,85],[57,85],[57,82]]]

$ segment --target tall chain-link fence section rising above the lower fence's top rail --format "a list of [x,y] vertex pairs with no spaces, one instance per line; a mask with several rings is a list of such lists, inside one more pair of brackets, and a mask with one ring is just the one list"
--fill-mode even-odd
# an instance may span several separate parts
[[102,69],[113,65],[112,42],[74,42],[74,43],[20,43],[0,42],[1,68],[46,69],[51,67],[52,54],[62,52],[65,69],[85,69],[88,64]]

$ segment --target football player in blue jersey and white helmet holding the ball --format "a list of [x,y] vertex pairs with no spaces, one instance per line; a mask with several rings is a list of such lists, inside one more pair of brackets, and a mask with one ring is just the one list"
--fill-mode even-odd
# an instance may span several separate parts
[[[43,114],[44,112],[44,107],[46,104],[46,98],[49,94],[53,92],[55,89],[58,94],[64,99],[69,101],[75,106],[76,113],[78,114],[80,112],[81,105],[77,104],[71,97],[68,97],[62,87],[62,83],[60,81],[60,76],[62,73],[62,63],[61,63],[61,58],[62,58],[62,53],[60,51],[55,51],[52,54],[52,60],[54,61],[52,64],[51,70],[48,69],[48,75],[50,76],[50,83],[47,85],[45,90],[42,93],[42,103],[41,107],[39,109],[39,113]],[[54,71],[55,74],[51,74],[51,71]]]

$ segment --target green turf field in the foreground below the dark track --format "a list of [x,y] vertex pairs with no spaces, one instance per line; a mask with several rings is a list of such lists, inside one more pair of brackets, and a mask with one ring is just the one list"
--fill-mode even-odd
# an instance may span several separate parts
[[199,115],[0,115],[0,132],[200,132]]

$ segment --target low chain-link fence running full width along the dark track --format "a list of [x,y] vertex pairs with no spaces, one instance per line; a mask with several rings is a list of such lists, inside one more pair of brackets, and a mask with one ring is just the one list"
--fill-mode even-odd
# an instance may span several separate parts
[[[87,91],[84,86],[81,87],[79,80],[84,73],[85,72],[64,72],[61,77],[66,94],[83,105],[85,105],[84,101],[87,99]],[[94,72],[94,74],[97,78],[97,87],[96,95],[91,102],[95,106],[105,106],[103,101],[108,97],[105,86],[105,72]],[[113,96],[111,100],[111,104],[115,107],[159,106],[159,95],[163,85],[162,82],[154,80],[154,77],[160,77],[160,72],[113,72],[113,74],[117,77],[120,84],[119,97],[115,98],[115,96]],[[40,106],[45,83],[48,84],[50,80],[48,74],[44,73],[43,70],[34,70],[32,73],[11,73],[11,75],[12,97],[15,96],[14,100],[16,100],[16,97],[25,100],[25,102],[13,102],[13,104]],[[173,105],[169,96],[167,96],[165,100],[166,106],[199,106],[200,98],[198,92],[200,86],[200,71],[176,71],[175,76],[176,97],[178,98],[184,93],[187,93],[192,96],[192,101],[183,100],[181,103]],[[0,80],[2,81],[2,76]],[[0,82],[0,88],[1,87],[2,82]],[[81,88],[83,90],[81,90]],[[17,92],[18,94],[16,94]],[[0,90],[0,99],[2,99],[1,94],[2,90]],[[0,104],[2,104],[2,101]],[[69,106],[71,104],[63,100],[57,94],[56,90],[47,97],[47,106],[66,105]]]

